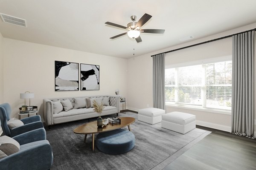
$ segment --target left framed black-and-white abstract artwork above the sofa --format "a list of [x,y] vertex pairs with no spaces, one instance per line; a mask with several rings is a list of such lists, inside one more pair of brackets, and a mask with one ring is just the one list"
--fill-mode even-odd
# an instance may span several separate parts
[[55,91],[79,90],[79,64],[55,61]]

